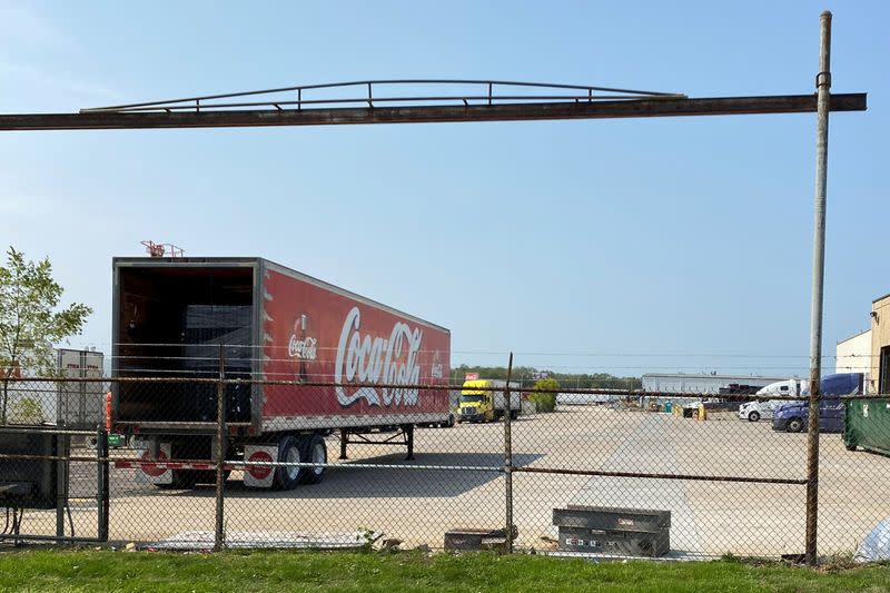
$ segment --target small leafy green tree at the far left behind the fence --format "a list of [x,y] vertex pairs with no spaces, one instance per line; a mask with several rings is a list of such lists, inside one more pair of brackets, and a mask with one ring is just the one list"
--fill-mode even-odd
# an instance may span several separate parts
[[52,374],[52,345],[80,334],[92,309],[75,303],[57,310],[62,287],[48,258],[28,261],[10,247],[0,267],[0,424],[7,423],[9,383],[19,369]]

